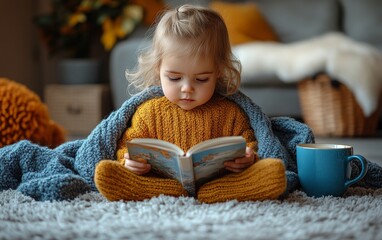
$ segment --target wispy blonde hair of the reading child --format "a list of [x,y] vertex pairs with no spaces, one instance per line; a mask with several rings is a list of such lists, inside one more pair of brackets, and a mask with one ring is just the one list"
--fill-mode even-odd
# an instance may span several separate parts
[[225,96],[237,91],[241,64],[232,54],[222,17],[211,9],[191,5],[162,15],[151,46],[138,57],[137,68],[134,72],[126,71],[130,85],[138,90],[160,86],[161,59],[179,50],[183,54],[211,56],[218,73],[216,91]]

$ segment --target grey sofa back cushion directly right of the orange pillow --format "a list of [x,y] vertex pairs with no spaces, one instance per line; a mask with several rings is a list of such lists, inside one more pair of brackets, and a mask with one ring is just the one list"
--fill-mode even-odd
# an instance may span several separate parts
[[334,0],[250,1],[259,6],[281,42],[294,42],[339,30],[339,4]]

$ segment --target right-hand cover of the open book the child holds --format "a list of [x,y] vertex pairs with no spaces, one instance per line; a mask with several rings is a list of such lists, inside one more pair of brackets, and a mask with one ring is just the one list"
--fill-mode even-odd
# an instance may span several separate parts
[[192,162],[196,188],[226,174],[228,171],[224,162],[244,156],[245,148],[246,143],[241,142],[194,153]]

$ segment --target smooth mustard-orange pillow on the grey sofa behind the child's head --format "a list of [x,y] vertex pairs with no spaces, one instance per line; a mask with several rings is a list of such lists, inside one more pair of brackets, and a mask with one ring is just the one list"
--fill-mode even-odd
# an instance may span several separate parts
[[212,2],[210,8],[224,19],[231,45],[278,41],[272,27],[254,3]]

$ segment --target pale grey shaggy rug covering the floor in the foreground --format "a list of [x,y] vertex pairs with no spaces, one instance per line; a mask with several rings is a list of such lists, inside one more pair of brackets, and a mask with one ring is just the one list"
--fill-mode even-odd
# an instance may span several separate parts
[[0,192],[0,239],[382,239],[382,189],[211,205],[166,196],[108,202],[98,193],[37,202],[8,190]]

